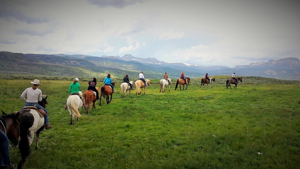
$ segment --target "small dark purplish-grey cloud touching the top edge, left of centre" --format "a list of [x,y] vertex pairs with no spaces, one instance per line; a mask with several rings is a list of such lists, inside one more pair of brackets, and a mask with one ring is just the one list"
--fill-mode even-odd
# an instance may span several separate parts
[[93,5],[98,5],[100,8],[114,7],[122,9],[129,5],[143,3],[145,0],[89,0],[89,2]]

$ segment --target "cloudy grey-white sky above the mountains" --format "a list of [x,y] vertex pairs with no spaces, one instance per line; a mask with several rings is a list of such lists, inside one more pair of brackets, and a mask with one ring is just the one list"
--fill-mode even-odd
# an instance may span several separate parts
[[201,66],[300,59],[297,0],[0,0],[0,51]]

